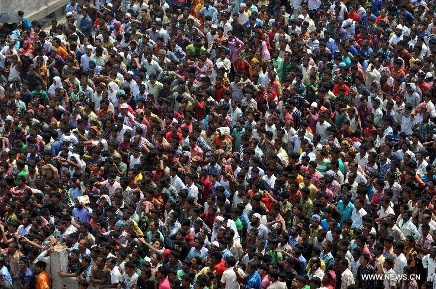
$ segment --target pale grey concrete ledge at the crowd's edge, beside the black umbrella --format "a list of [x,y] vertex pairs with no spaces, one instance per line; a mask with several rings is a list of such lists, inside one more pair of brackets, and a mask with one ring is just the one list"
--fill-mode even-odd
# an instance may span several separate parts
[[41,20],[69,2],[69,0],[0,0],[0,11],[15,14],[22,10],[29,20]]

